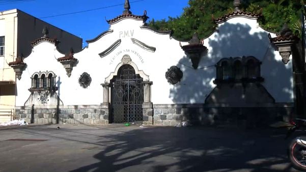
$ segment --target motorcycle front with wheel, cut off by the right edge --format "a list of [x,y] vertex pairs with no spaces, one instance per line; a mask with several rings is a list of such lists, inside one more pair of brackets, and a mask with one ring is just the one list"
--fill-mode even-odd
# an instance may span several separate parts
[[[292,125],[287,132],[286,138],[291,136],[295,131],[306,128],[306,120],[296,118],[290,121]],[[306,171],[306,136],[295,137],[289,145],[289,159],[291,164],[299,170]]]

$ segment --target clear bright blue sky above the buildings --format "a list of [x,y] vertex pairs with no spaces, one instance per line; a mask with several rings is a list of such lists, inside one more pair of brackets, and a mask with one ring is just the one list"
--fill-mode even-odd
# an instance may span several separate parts
[[[112,19],[122,14],[124,9],[121,4],[124,4],[124,0],[0,0],[0,11],[17,8],[81,37],[86,46],[86,40],[108,30],[105,18]],[[130,11],[135,15],[143,15],[147,10],[149,20],[159,20],[180,16],[183,8],[188,6],[188,0],[130,0],[130,6]],[[102,9],[48,17],[97,8]]]

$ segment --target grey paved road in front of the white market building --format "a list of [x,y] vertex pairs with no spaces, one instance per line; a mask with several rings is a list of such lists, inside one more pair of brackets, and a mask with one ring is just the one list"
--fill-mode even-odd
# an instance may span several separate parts
[[296,171],[283,130],[57,126],[0,130],[0,171]]

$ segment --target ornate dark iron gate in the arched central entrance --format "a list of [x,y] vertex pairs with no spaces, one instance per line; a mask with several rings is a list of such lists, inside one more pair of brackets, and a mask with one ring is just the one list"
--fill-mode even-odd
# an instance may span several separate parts
[[143,121],[143,78],[130,65],[123,65],[112,80],[113,122]]

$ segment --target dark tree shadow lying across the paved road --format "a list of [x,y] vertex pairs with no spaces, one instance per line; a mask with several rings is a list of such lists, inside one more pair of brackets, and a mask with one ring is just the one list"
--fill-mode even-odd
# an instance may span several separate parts
[[[279,131],[152,127],[98,138],[100,162],[72,171],[289,171]],[[273,166],[281,165],[280,168]]]

